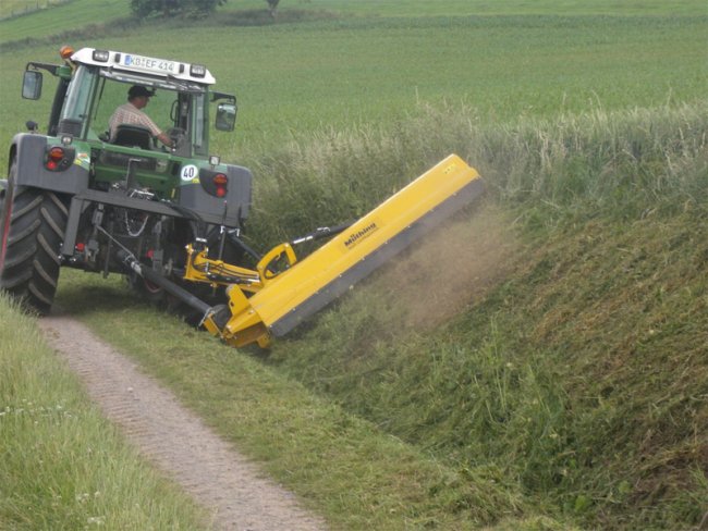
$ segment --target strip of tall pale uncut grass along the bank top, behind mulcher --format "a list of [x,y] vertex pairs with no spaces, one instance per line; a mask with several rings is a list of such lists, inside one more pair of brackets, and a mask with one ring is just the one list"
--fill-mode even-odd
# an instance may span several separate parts
[[368,211],[450,152],[481,173],[529,226],[561,219],[706,213],[708,104],[601,109],[489,124],[419,104],[391,127],[321,129],[249,160],[259,176],[251,235],[276,243]]

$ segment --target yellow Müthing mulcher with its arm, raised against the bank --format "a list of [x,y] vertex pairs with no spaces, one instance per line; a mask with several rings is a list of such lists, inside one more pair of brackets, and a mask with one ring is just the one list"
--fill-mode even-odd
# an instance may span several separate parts
[[209,306],[154,276],[130,256],[124,259],[135,272],[203,311],[204,328],[225,343],[267,347],[271,337],[290,332],[481,192],[479,174],[451,155],[346,229],[326,231],[338,233],[301,261],[289,243],[266,254],[255,270],[210,259],[208,249],[187,246],[184,280],[227,286],[227,305]]

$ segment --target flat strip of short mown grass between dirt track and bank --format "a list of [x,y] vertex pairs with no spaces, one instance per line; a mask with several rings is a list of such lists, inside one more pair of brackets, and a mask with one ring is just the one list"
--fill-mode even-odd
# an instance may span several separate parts
[[65,308],[168,383],[334,529],[476,529],[500,515],[517,517],[520,529],[535,529],[539,519],[545,529],[567,529],[525,507],[497,470],[444,465],[257,357],[141,305],[120,283],[68,273],[60,288]]

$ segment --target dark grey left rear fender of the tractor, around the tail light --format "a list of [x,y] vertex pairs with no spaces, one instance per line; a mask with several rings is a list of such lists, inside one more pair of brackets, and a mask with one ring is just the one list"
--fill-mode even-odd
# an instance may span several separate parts
[[45,168],[48,137],[20,133],[12,139],[10,161],[16,160],[15,185],[34,186],[63,194],[77,194],[88,187],[88,170],[71,163],[62,171]]

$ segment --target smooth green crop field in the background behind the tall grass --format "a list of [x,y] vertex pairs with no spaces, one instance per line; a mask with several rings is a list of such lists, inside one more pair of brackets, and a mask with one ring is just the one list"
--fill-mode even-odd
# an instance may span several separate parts
[[[708,16],[697,8],[693,13],[362,14],[266,27],[217,26],[218,48],[192,46],[205,33],[194,24],[134,30],[117,24],[115,33],[98,32],[106,37],[88,33],[70,40],[75,47],[141,50],[208,64],[219,88],[234,90],[241,107],[236,134],[215,135],[213,150],[243,162],[252,153],[260,158],[278,149],[294,132],[391,124],[420,102],[464,104],[476,109],[477,120],[502,123],[520,115],[700,100],[708,83]],[[218,21],[229,22],[227,15]],[[176,32],[180,41],[173,39]],[[27,102],[20,98],[21,76],[28,60],[56,61],[57,48],[0,52],[9,73],[0,81],[0,95],[10,103],[0,111],[7,124],[3,145],[27,119],[41,124],[47,115],[51,83],[41,103]]]

